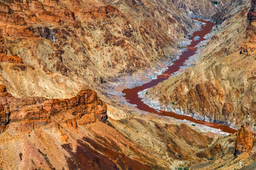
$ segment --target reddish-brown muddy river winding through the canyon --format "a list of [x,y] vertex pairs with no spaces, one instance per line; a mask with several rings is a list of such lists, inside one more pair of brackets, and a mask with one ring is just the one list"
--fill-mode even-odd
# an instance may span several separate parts
[[[198,20],[200,22],[204,22],[206,23],[205,25],[203,25],[201,28],[202,30],[200,31],[196,31],[193,36],[191,36],[191,40],[193,40],[191,42],[190,45],[187,46],[187,51],[184,51],[183,54],[179,57],[178,60],[174,61],[172,66],[169,66],[167,71],[165,71],[163,74],[157,76],[157,79],[152,80],[149,83],[143,84],[142,86],[137,86],[134,87],[132,89],[124,89],[123,93],[125,94],[124,97],[128,100],[129,103],[131,104],[136,104],[137,108],[140,110],[144,110],[146,112],[150,112],[150,113],[156,113],[159,115],[163,115],[163,116],[170,116],[170,117],[174,117],[176,119],[180,119],[180,120],[188,120],[194,123],[199,123],[202,125],[206,125],[209,127],[213,127],[213,128],[217,128],[217,129],[221,129],[223,132],[227,132],[227,133],[235,133],[237,130],[230,128],[229,126],[225,126],[222,124],[218,124],[218,123],[212,123],[212,122],[205,122],[205,121],[201,121],[201,120],[196,120],[193,117],[190,116],[185,116],[185,115],[180,115],[180,114],[176,114],[173,112],[168,112],[168,111],[162,111],[160,110],[160,112],[158,112],[156,109],[149,107],[147,104],[143,103],[143,101],[141,101],[141,98],[138,96],[138,92],[145,90],[147,88],[153,87],[156,84],[166,80],[169,78],[169,76],[178,71],[179,68],[181,66],[183,66],[185,60],[188,59],[188,57],[193,56],[194,54],[196,54],[196,48],[195,46],[200,43],[201,41],[206,40],[204,38],[204,36],[206,34],[208,34],[212,28],[214,26],[214,23],[212,22],[206,22],[205,20],[201,20],[201,19],[195,19]],[[195,36],[199,36],[199,40],[194,40]]]

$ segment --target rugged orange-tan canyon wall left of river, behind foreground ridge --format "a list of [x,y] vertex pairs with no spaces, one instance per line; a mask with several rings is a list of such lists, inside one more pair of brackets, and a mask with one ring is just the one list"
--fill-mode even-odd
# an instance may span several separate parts
[[14,0],[0,13],[0,84],[15,97],[99,90],[169,59],[195,26],[174,3],[152,0]]

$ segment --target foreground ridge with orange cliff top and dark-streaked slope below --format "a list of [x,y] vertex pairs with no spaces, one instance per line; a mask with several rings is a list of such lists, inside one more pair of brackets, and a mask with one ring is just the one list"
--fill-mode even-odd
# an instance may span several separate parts
[[186,124],[153,117],[107,119],[106,105],[84,89],[71,99],[14,98],[1,86],[3,169],[169,169],[214,139]]

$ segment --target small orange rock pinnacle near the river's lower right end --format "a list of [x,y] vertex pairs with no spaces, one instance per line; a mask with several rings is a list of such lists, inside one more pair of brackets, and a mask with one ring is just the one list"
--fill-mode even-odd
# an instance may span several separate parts
[[248,129],[248,127],[244,124],[237,131],[237,140],[235,143],[235,153],[234,155],[237,156],[242,152],[249,152],[252,149],[252,131]]

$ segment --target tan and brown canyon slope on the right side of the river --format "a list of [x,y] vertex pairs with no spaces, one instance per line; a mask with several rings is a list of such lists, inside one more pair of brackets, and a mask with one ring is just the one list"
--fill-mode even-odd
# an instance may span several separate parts
[[216,26],[217,33],[200,48],[195,66],[149,89],[148,98],[157,96],[160,105],[196,119],[252,127],[255,58],[246,55],[254,54],[247,45],[254,43],[248,36],[254,30],[254,22],[249,25],[247,20],[250,5],[251,1],[233,4],[226,14],[230,18]]

